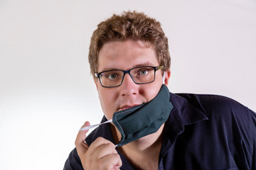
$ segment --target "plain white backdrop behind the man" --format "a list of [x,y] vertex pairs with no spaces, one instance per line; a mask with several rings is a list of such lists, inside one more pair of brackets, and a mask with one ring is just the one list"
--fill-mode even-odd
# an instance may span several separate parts
[[102,118],[87,64],[92,31],[128,9],[162,23],[171,92],[256,110],[254,0],[0,0],[0,169],[63,169],[80,126]]

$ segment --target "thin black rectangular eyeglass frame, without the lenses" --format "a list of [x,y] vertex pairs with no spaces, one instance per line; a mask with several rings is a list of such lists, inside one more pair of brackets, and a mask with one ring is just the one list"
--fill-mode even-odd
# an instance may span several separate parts
[[[132,69],[143,68],[143,67],[151,67],[151,68],[154,69],[154,79],[153,79],[152,81],[149,81],[149,82],[146,82],[146,83],[137,83],[137,82],[134,81],[134,78],[132,77],[131,70],[132,70]],[[155,80],[155,78],[156,78],[156,71],[159,70],[159,69],[163,69],[163,68],[164,68],[164,66],[161,65],[161,66],[157,66],[157,67],[154,67],[154,66],[134,67],[134,68],[129,69],[129,70],[127,70],[127,71],[122,70],[122,69],[110,69],[110,70],[106,70],[106,71],[103,71],[103,72],[95,73],[95,77],[97,77],[98,79],[100,79],[100,74],[102,74],[102,73],[104,73],[104,72],[122,71],[122,72],[124,72],[124,75],[123,75],[123,77],[122,77],[121,83],[120,83],[119,85],[117,85],[117,86],[121,86],[121,85],[122,85],[122,82],[124,81],[124,76],[125,76],[125,74],[127,74],[127,73],[128,73],[129,76],[132,78],[132,81],[134,81],[135,84],[149,84],[149,83],[151,83],[151,82],[153,82],[153,81]],[[101,79],[100,79],[100,84],[102,85]],[[112,87],[117,87],[117,86],[103,86],[103,85],[102,85],[102,87],[105,87],[105,88],[112,88]]]

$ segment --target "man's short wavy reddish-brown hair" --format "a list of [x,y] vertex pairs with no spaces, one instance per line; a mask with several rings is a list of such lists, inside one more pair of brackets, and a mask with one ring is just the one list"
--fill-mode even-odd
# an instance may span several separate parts
[[156,52],[159,64],[164,65],[163,71],[170,68],[168,39],[161,28],[161,23],[144,13],[124,11],[121,15],[114,14],[106,21],[102,21],[93,32],[88,55],[91,74],[97,72],[99,52],[106,42],[127,39],[149,43]]

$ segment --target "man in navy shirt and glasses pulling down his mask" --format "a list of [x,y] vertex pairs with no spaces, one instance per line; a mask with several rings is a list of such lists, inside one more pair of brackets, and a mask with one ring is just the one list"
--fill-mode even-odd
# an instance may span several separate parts
[[124,12],[100,23],[89,62],[102,123],[112,123],[86,136],[85,122],[64,169],[256,169],[253,111],[223,96],[165,92],[168,40],[154,18]]

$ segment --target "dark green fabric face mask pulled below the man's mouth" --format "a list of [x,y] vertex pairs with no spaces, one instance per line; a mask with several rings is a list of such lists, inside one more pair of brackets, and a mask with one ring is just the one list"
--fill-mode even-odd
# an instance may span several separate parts
[[117,147],[159,130],[174,108],[169,96],[168,88],[162,85],[159,93],[149,103],[115,112],[112,121],[122,135]]

